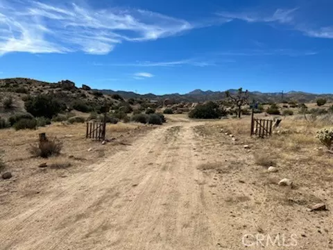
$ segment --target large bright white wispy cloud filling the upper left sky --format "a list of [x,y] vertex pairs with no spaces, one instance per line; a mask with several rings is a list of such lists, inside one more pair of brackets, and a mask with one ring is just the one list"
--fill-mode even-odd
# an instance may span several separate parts
[[123,41],[157,40],[192,28],[186,20],[147,10],[5,0],[0,8],[0,54],[106,54]]

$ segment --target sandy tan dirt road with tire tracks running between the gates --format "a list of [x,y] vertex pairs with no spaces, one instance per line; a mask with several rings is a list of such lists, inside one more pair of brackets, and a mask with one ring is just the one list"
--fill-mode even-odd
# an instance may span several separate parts
[[244,149],[207,138],[203,124],[161,126],[1,215],[0,249],[244,249],[242,235],[260,227],[300,233],[302,215],[268,206],[241,172]]

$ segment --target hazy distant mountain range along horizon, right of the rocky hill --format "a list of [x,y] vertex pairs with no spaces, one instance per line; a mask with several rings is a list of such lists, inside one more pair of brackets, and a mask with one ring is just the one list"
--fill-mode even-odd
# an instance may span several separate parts
[[[230,93],[234,94],[237,90],[228,90]],[[113,91],[113,90],[101,90],[104,94],[120,94],[122,97],[128,98],[147,98],[147,99],[171,99],[174,101],[190,101],[190,102],[200,102],[200,101],[216,101],[225,99],[225,91],[203,91],[203,90],[193,90],[187,94],[136,94],[135,92],[126,91]],[[282,93],[263,93],[263,92],[249,92],[250,99],[255,99],[260,103],[269,102],[281,102]],[[298,101],[299,103],[309,103],[315,102],[318,98],[325,98],[327,101],[333,101],[333,94],[311,94],[306,92],[291,91],[285,92],[283,94],[284,101]]]

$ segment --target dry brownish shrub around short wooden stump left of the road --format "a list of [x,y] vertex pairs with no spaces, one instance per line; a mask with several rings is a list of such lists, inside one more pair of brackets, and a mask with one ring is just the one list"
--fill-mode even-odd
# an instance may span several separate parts
[[46,142],[39,142],[37,145],[31,145],[29,151],[35,157],[49,158],[58,156],[62,149],[62,142],[54,138]]

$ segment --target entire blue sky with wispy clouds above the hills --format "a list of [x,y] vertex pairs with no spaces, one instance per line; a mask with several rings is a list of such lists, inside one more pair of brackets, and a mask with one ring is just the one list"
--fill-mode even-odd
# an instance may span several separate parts
[[0,0],[0,78],[333,92],[333,1]]

